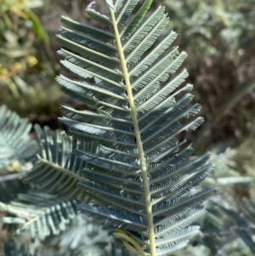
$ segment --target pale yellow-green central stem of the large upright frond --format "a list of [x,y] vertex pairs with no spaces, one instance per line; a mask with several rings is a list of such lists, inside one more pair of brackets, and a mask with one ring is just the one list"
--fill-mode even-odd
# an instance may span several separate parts
[[112,9],[110,9],[110,13],[111,13],[112,25],[113,25],[113,28],[114,28],[114,31],[116,34],[116,44],[117,44],[118,52],[120,54],[120,60],[122,63],[122,71],[124,74],[124,80],[126,83],[128,102],[129,102],[129,106],[130,106],[130,110],[131,110],[131,117],[133,120],[133,131],[134,131],[136,144],[137,144],[138,151],[139,151],[139,161],[140,161],[140,169],[141,169],[142,177],[143,177],[144,200],[145,200],[145,208],[146,208],[149,239],[150,239],[150,256],[156,256],[156,244],[155,244],[155,232],[154,232],[154,225],[153,225],[152,204],[150,202],[150,184],[149,184],[148,175],[147,175],[147,171],[146,171],[146,161],[145,161],[145,157],[144,157],[143,142],[142,142],[142,139],[140,136],[139,122],[137,119],[137,112],[136,112],[136,109],[134,106],[132,88],[131,88],[129,75],[128,75],[128,71],[127,71],[125,56],[123,53],[121,37],[119,35],[119,31],[118,31],[118,28],[116,25],[115,15],[114,15],[114,12]]

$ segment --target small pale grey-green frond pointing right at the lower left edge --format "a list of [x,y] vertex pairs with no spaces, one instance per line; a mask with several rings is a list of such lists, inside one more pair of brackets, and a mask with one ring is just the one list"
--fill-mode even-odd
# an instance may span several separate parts
[[50,234],[59,235],[77,215],[76,201],[65,202],[56,196],[32,191],[19,194],[18,201],[1,203],[0,207],[1,211],[15,215],[3,217],[1,222],[6,225],[20,225],[20,228],[15,230],[15,236],[29,230],[32,241],[36,238],[44,240]]

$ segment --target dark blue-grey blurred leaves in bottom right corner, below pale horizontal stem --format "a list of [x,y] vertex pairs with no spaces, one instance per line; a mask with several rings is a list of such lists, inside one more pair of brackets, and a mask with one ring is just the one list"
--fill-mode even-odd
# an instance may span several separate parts
[[234,251],[241,252],[244,247],[255,253],[254,202],[245,198],[238,203],[238,208],[226,208],[219,202],[212,204],[201,224],[200,242],[212,255],[221,252],[227,256]]

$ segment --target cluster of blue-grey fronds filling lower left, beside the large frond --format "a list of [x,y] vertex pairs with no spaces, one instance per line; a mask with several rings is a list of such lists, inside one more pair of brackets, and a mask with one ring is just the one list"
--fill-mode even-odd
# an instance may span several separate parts
[[[3,157],[0,158],[0,212],[4,214],[0,222],[3,223],[7,236],[13,236],[14,233],[14,236],[23,237],[22,242],[4,240],[4,255],[34,255],[32,252],[37,248],[38,242],[41,242],[39,251],[48,256],[57,253],[65,256],[89,253],[97,256],[131,255],[111,245],[111,230],[104,230],[89,219],[77,215],[77,200],[63,201],[56,196],[35,192],[34,188],[31,190],[31,185],[26,185],[21,180],[31,166],[34,170],[50,172],[47,164],[43,166],[43,157],[54,168],[59,164],[60,169],[81,170],[82,161],[71,155],[71,151],[74,148],[93,151],[94,148],[72,139],[64,131],[57,130],[53,137],[49,128],[42,129],[38,125],[34,127],[36,139],[29,139],[31,123],[9,111],[5,105],[0,107],[0,117],[3,149]],[[36,154],[40,156],[38,161],[35,161]],[[71,179],[65,180],[65,185],[66,182],[71,182]],[[42,187],[37,186],[38,189],[42,190]],[[74,196],[76,195],[72,195]],[[79,198],[82,199],[82,196]],[[37,246],[33,243],[24,244],[27,234],[31,242],[37,242]],[[108,251],[105,249],[107,245],[110,247]],[[49,246],[52,247],[51,250],[47,250]]]

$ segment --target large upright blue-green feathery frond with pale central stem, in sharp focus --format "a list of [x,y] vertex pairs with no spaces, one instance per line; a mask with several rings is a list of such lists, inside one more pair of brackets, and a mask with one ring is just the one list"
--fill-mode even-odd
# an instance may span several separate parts
[[212,163],[208,155],[186,160],[192,149],[179,150],[184,141],[176,139],[202,122],[201,117],[183,121],[201,109],[190,105],[190,84],[179,88],[187,71],[175,74],[186,54],[172,46],[173,31],[157,40],[168,23],[164,8],[145,17],[151,3],[145,0],[131,17],[137,3],[106,0],[107,14],[90,5],[88,16],[107,29],[62,18],[61,63],[79,78],[57,81],[88,108],[63,105],[66,117],[60,120],[74,138],[99,143],[96,152],[74,151],[86,162],[82,175],[87,180],[79,186],[94,198],[80,213],[121,228],[116,237],[129,250],[159,256],[184,247],[198,233],[191,224],[216,190],[190,193],[212,171]]

